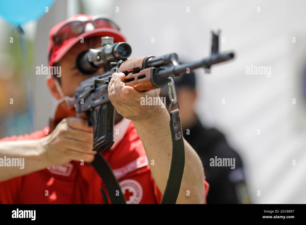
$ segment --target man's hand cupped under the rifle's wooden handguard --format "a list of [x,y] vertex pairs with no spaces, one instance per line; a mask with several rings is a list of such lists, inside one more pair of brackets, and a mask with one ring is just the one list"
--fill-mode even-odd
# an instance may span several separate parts
[[[133,87],[125,86],[124,73],[113,73],[108,85],[108,96],[119,114],[132,121],[143,121],[156,117],[156,107],[152,105],[140,105],[141,97],[159,97],[160,89],[147,92],[139,92]],[[154,98],[153,98],[154,99]],[[160,108],[160,106],[159,106]]]

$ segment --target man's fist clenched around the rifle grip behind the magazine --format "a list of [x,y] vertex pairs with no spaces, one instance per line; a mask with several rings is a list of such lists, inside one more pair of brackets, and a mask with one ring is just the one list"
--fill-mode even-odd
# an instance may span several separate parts
[[80,118],[63,119],[47,137],[40,139],[46,161],[50,165],[62,165],[70,161],[92,162],[93,129]]

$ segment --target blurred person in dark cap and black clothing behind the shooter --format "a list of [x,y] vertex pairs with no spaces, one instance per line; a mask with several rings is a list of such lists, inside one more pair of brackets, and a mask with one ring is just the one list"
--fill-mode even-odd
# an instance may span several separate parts
[[[195,74],[192,72],[182,75],[175,78],[174,83],[180,104],[183,136],[200,156],[206,180],[210,185],[207,204],[250,203],[239,155],[227,144],[225,136],[220,131],[205,128],[194,111],[197,96]],[[170,100],[167,86],[161,88],[160,96],[166,97],[168,108]],[[216,156],[217,158],[235,158],[235,168],[211,167],[210,159],[215,159]]]

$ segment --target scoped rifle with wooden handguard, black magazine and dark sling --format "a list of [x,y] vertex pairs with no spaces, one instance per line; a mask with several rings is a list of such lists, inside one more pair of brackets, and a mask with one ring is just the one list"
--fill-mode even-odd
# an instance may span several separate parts
[[[132,48],[128,43],[114,43],[114,38],[102,37],[101,47],[89,49],[88,51],[80,53],[76,58],[76,65],[84,74],[95,73],[101,67],[104,67],[107,72],[82,81],[76,88],[74,99],[66,98],[59,103],[55,114],[51,118],[51,132],[63,118],[73,115],[80,117],[85,114],[88,125],[93,126],[93,150],[98,152],[107,151],[114,144],[114,106],[108,97],[108,84],[112,74],[124,73],[125,85],[131,86],[137,91],[149,91],[155,88],[161,88],[167,83],[171,86],[173,83],[172,77],[178,77],[185,74],[187,70],[192,71],[197,68],[204,68],[206,72],[208,72],[212,65],[228,61],[234,57],[233,52],[219,53],[218,37],[219,32],[212,32],[211,56],[209,58],[185,64],[178,63],[178,56],[176,53],[170,53],[159,57],[149,55],[127,60],[132,53]],[[172,97],[172,93],[171,95],[169,94],[169,97],[171,96],[171,105],[172,103],[177,103],[176,98]],[[176,148],[182,148],[184,154],[184,146],[181,146],[183,145],[183,141],[178,110],[171,111],[170,128],[173,137],[173,151],[174,146],[176,146]],[[176,144],[176,141],[181,142]],[[96,154],[96,156],[97,155],[99,154]],[[172,157],[174,157],[175,154],[173,153],[172,155]],[[185,158],[181,158],[180,160],[184,161]],[[94,160],[93,165],[102,177],[103,172],[101,171],[105,171],[106,168],[101,168],[101,160],[99,163],[95,161],[96,160]],[[175,159],[172,158],[171,167],[175,162]],[[177,164],[179,164],[178,161]],[[96,167],[100,168],[97,169]],[[181,171],[181,176],[182,173],[183,171]],[[104,176],[102,179],[105,182],[107,178]],[[112,188],[114,188],[114,186]],[[167,185],[167,187],[168,186],[169,185]],[[109,188],[107,189],[109,190]],[[165,193],[166,191],[167,188]],[[177,194],[178,191],[179,187],[176,190]],[[112,203],[115,201],[115,198],[113,198]]]

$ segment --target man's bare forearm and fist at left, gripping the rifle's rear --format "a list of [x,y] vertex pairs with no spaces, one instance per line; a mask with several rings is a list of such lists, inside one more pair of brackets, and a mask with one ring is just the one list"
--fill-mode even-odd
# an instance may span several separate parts
[[[20,167],[1,167],[0,182],[71,160],[92,162],[92,128],[80,118],[63,119],[52,133],[37,140],[0,141],[0,158],[21,158]],[[24,159],[24,160],[23,160]],[[6,162],[4,162],[6,163]]]

